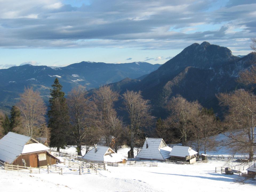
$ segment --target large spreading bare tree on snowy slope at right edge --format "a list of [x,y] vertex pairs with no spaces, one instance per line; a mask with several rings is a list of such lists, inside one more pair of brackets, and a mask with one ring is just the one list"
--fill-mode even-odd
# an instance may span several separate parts
[[226,133],[226,129],[222,131],[228,140],[223,145],[230,146],[234,153],[248,153],[252,161],[256,145],[256,96],[240,89],[230,94],[221,93],[217,97],[220,105],[229,107],[229,114],[225,117],[229,132]]

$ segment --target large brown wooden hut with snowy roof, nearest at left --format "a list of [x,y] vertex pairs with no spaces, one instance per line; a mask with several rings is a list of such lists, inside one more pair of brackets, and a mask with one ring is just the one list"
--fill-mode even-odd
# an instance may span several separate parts
[[56,164],[58,158],[48,147],[31,137],[9,132],[0,139],[0,161],[10,165],[42,167]]

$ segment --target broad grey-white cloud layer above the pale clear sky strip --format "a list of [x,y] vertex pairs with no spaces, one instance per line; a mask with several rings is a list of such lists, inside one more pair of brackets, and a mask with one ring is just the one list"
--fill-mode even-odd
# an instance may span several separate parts
[[210,41],[249,50],[256,37],[256,4],[250,0],[65,2],[0,1],[0,47],[161,50]]

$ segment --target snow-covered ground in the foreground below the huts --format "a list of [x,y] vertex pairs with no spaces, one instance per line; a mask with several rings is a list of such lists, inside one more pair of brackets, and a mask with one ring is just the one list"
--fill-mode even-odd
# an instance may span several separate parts
[[[75,152],[70,147],[70,153]],[[118,152],[126,155],[129,148],[123,147]],[[199,165],[176,165],[158,162],[157,167],[107,166],[97,174],[79,175],[79,171],[71,171],[62,163],[63,175],[38,173],[22,173],[0,168],[1,191],[172,191],[172,190],[207,190],[207,191],[255,191],[255,184],[241,185],[236,183],[238,175],[215,173],[215,167],[235,166],[243,169],[244,165],[227,159],[210,160]],[[246,169],[249,165],[246,165]],[[42,173],[43,172],[43,173]]]

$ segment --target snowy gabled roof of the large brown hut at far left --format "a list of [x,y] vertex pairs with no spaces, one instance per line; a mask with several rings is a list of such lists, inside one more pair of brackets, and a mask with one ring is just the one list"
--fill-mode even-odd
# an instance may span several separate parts
[[[40,144],[37,141],[35,141],[34,139],[32,139],[31,137],[13,133],[13,132],[9,132],[2,139],[0,139],[0,160],[11,164],[20,154],[23,153],[23,149],[26,151],[26,153],[42,151],[42,150],[35,149],[34,147],[32,150],[31,144],[26,145],[27,143],[29,143],[30,140],[33,140],[33,142],[34,142],[31,144]],[[40,145],[42,145],[42,144],[40,144]],[[35,146],[35,145],[33,145],[33,146]],[[43,146],[40,146],[40,149],[42,149],[42,148],[44,148],[43,150],[49,149],[48,147],[46,147],[46,146],[43,147]],[[39,146],[37,145],[37,147],[39,147]],[[29,151],[29,150],[31,150],[31,151]]]

